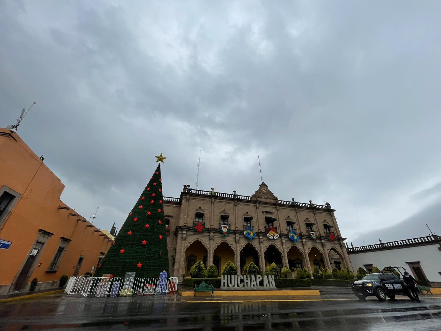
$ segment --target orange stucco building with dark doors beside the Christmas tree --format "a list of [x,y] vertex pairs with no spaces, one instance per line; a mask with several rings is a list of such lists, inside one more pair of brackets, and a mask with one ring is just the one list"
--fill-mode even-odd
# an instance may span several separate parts
[[17,133],[0,128],[0,294],[59,286],[96,268],[112,239],[60,200],[64,184]]

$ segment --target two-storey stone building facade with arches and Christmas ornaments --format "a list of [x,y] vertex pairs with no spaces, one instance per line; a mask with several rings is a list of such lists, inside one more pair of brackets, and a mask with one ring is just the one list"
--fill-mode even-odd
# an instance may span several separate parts
[[252,196],[184,185],[179,198],[164,197],[164,212],[176,277],[189,275],[199,260],[214,264],[219,275],[227,261],[240,274],[250,262],[261,270],[273,262],[280,270],[352,270],[331,205],[279,200],[264,182]]

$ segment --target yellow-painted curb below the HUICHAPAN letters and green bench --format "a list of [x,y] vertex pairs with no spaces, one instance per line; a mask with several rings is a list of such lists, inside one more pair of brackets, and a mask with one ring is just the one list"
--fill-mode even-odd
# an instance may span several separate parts
[[[194,290],[180,290],[178,293],[183,297],[194,297]],[[315,289],[310,290],[235,290],[235,291],[225,291],[225,290],[214,290],[215,297],[243,297],[243,296],[319,296],[320,291]],[[207,292],[196,292],[196,297],[206,297],[211,296],[211,291]]]

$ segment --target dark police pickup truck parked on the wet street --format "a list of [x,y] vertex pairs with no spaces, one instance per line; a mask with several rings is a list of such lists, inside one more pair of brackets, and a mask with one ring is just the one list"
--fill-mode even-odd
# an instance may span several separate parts
[[393,268],[398,272],[393,271],[392,268],[381,270],[380,272],[367,274],[360,280],[353,282],[352,291],[355,296],[361,300],[366,299],[367,296],[376,296],[378,300],[385,301],[386,297],[395,299],[396,295],[407,295],[411,300],[415,300],[415,295],[408,290],[403,278],[396,275],[403,275],[398,269],[402,267]]

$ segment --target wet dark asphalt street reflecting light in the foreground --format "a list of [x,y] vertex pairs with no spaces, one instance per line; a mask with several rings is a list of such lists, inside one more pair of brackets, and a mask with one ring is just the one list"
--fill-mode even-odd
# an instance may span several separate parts
[[0,330],[441,330],[440,297],[425,296],[421,303],[405,297],[385,302],[352,297],[285,302],[184,300],[179,296],[52,295],[14,301],[0,304]]

